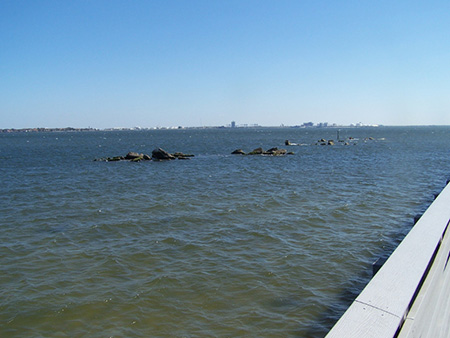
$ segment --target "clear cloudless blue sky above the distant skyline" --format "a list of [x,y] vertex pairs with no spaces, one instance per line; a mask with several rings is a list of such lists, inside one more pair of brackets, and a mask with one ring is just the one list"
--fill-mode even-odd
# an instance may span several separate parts
[[450,1],[0,1],[0,128],[233,120],[450,125]]

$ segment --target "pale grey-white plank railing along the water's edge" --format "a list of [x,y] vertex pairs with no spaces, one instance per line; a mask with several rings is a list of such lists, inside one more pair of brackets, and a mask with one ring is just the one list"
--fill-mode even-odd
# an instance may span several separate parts
[[326,338],[450,335],[450,184]]

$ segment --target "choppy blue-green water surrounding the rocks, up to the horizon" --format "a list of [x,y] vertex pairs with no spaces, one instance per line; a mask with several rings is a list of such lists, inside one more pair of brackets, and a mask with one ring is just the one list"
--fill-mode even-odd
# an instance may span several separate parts
[[0,336],[324,336],[450,176],[448,127],[336,132],[0,135]]

